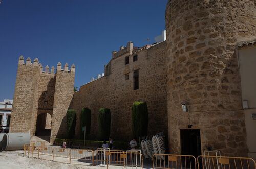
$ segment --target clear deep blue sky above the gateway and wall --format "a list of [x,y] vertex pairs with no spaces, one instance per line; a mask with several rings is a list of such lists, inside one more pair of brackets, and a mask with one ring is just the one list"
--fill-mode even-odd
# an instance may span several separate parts
[[104,71],[111,52],[154,42],[165,30],[167,0],[2,0],[0,102],[12,99],[18,58],[76,65],[75,86]]

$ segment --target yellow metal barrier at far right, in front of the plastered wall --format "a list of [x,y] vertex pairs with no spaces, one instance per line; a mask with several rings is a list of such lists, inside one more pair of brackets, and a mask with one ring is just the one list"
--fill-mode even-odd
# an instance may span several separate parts
[[256,162],[247,157],[198,156],[198,168],[205,169],[256,169]]

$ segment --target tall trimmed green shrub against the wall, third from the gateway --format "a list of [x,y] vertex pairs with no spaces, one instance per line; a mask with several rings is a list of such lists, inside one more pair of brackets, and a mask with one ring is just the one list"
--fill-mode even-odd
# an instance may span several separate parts
[[111,113],[110,109],[100,108],[99,109],[99,138],[103,141],[109,139],[110,136],[110,125],[111,125]]

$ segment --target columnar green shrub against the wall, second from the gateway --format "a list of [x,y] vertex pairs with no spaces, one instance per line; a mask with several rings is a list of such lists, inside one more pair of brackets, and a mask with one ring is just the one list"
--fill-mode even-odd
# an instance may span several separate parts
[[[91,116],[92,112],[89,108],[83,108],[81,111],[81,130],[82,127],[86,126],[86,135],[90,134],[91,132]],[[83,132],[81,131],[81,138],[83,138]]]

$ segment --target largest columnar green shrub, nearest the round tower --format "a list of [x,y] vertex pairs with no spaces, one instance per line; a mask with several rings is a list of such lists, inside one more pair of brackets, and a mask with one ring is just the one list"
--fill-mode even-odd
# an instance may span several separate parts
[[132,107],[133,136],[139,138],[147,135],[148,112],[146,102],[134,102]]

